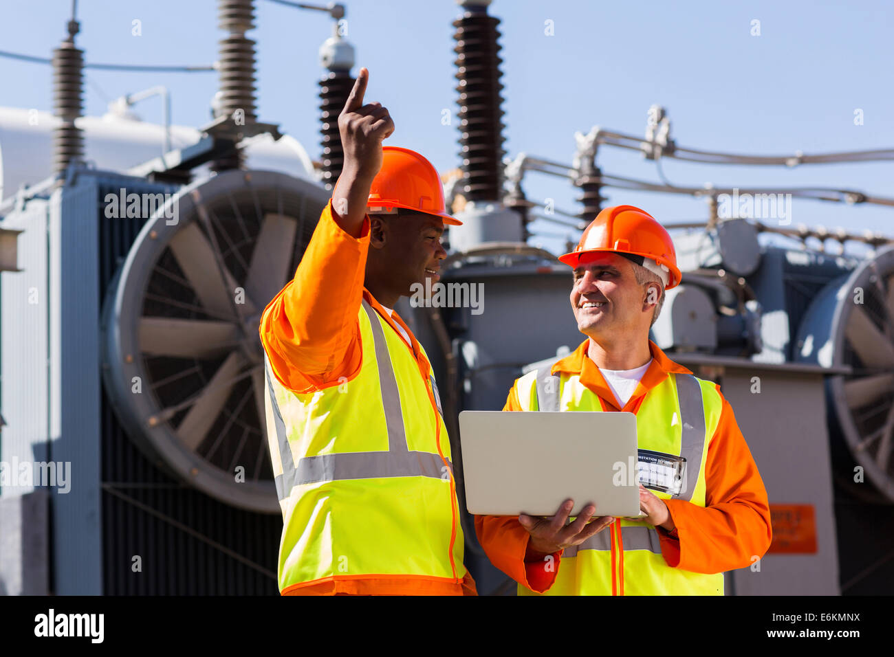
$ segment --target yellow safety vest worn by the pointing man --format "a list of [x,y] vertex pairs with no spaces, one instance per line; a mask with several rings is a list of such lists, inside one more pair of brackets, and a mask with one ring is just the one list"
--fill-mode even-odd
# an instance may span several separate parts
[[459,583],[466,574],[431,367],[424,377],[366,299],[358,320],[362,364],[350,380],[297,394],[266,363],[267,437],[283,510],[281,593],[328,579]]

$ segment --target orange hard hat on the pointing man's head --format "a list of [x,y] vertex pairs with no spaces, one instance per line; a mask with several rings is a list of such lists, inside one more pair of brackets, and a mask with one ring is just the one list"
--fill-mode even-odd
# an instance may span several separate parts
[[415,150],[385,146],[382,168],[369,189],[367,212],[389,214],[399,207],[439,216],[451,226],[462,225],[447,214],[441,178],[432,163]]

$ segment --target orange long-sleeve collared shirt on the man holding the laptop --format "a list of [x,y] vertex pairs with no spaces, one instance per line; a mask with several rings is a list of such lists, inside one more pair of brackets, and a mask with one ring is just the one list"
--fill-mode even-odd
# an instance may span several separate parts
[[[619,409],[599,367],[587,356],[588,342],[585,340],[574,353],[555,363],[552,374],[580,375],[580,383],[600,398],[603,410],[636,413],[645,395],[665,377],[672,373],[692,374],[649,341],[652,364],[624,408]],[[717,386],[717,392],[720,392],[720,386]],[[503,410],[521,410],[515,385]],[[698,573],[719,573],[750,566],[753,555],[763,556],[770,547],[770,505],[755,459],[726,399],[722,402],[720,423],[708,445],[704,477],[704,507],[689,501],[664,500],[675,528],[673,532],[658,530],[662,557],[671,568]],[[475,529],[479,543],[498,569],[536,593],[544,593],[552,586],[563,551],[553,555],[549,571],[542,559],[526,564],[529,535],[519,524],[518,517],[476,516]],[[630,577],[636,576],[631,573]]]

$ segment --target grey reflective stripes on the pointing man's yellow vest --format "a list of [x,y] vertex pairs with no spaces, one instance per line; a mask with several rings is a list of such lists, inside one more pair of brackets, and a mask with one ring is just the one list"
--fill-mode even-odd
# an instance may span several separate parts
[[[318,454],[299,459],[297,467],[291,456],[291,447],[285,430],[283,416],[274,394],[269,362],[265,366],[267,387],[274,410],[274,426],[283,461],[283,475],[276,477],[276,493],[282,501],[291,493],[295,485],[315,484],[343,479],[375,479],[398,476],[427,476],[442,479],[444,469],[453,464],[447,460],[443,465],[440,456],[427,451],[409,451],[407,435],[401,414],[401,394],[398,392],[388,345],[385,343],[382,324],[375,310],[363,299],[363,309],[369,317],[375,344],[375,359],[379,369],[379,383],[382,391],[382,406],[388,431],[388,451],[354,451],[334,454]],[[433,383],[434,384],[434,383]]]

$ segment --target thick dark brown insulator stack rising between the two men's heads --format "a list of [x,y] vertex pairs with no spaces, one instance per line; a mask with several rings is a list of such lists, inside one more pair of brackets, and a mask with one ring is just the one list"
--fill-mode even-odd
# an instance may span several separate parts
[[487,4],[467,0],[462,16],[453,21],[464,176],[460,193],[469,201],[499,201],[503,196],[500,21],[487,14]]

